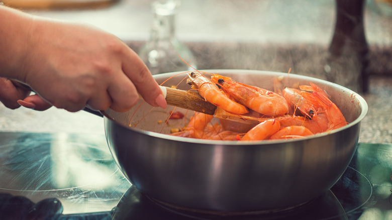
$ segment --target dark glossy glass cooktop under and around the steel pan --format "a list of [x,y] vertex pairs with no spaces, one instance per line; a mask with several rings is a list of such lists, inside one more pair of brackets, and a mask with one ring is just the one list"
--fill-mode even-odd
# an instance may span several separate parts
[[320,197],[278,213],[217,215],[142,194],[118,169],[105,136],[0,133],[0,218],[392,219],[391,161],[391,144],[359,144],[343,176]]

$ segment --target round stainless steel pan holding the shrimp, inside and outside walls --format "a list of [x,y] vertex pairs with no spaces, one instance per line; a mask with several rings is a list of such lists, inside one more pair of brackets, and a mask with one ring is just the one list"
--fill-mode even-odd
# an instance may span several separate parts
[[[360,121],[367,113],[360,95],[302,75],[206,71],[271,90],[272,79],[279,76],[287,86],[315,82],[331,95],[349,125],[301,140],[207,141],[165,135],[170,127],[184,125],[183,120],[171,120],[162,130],[164,123],[158,122],[167,119],[171,107],[150,112],[151,106],[143,103],[126,113],[109,109],[105,112],[106,138],[113,157],[133,185],[147,196],[174,206],[231,212],[296,206],[335,184],[353,157]],[[161,83],[175,74],[154,77]],[[183,77],[185,74],[174,76],[164,85],[176,85]],[[186,90],[189,85],[183,82],[178,88]],[[176,111],[186,113],[185,109]]]

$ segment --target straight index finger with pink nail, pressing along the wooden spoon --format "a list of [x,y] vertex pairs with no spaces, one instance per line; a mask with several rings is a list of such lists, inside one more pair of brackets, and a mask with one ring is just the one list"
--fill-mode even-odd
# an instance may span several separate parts
[[[128,47],[128,46],[127,46]],[[128,47],[122,60],[122,69],[131,79],[143,99],[152,106],[165,108],[167,103],[162,90],[140,57]]]

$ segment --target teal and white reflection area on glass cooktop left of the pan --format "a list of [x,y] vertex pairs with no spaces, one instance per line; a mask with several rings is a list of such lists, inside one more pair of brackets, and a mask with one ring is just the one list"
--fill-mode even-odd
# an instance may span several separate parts
[[105,137],[19,134],[0,152],[0,192],[34,203],[57,198],[64,214],[110,211],[131,185]]

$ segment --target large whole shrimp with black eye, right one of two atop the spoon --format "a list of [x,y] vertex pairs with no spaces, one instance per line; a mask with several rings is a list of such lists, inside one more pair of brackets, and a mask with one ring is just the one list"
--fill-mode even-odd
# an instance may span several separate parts
[[286,100],[275,92],[255,89],[218,74],[212,76],[212,81],[241,104],[265,116],[282,116],[289,111]]

